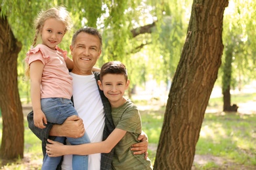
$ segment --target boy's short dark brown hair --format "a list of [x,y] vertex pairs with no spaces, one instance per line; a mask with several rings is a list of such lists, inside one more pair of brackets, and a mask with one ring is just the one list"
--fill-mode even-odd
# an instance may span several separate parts
[[127,69],[120,61],[110,61],[104,63],[100,69],[100,81],[102,82],[103,76],[107,74],[124,75],[125,80],[128,79]]

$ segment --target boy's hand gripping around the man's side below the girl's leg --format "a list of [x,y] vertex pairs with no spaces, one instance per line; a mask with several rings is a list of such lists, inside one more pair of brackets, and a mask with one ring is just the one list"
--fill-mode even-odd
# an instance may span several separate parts
[[64,147],[65,145],[56,141],[52,141],[47,139],[49,143],[46,145],[46,153],[49,157],[57,157],[64,155]]

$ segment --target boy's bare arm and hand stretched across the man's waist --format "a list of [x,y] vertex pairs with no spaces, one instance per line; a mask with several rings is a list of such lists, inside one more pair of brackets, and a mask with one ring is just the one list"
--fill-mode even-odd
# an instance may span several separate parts
[[89,155],[96,153],[108,153],[123,138],[126,131],[122,129],[114,129],[105,141],[99,143],[87,143],[78,145],[64,145],[48,139],[47,154],[50,157],[62,156],[66,154]]

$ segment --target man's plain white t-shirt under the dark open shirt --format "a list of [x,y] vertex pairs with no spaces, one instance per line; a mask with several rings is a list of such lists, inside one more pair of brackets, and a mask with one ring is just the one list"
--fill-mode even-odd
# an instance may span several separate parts
[[[74,106],[79,116],[83,119],[85,131],[89,135],[91,143],[102,141],[105,125],[103,104],[98,92],[95,75],[75,75],[73,78]],[[72,155],[64,156],[62,169],[72,169]],[[89,170],[100,169],[100,154],[89,155]]]

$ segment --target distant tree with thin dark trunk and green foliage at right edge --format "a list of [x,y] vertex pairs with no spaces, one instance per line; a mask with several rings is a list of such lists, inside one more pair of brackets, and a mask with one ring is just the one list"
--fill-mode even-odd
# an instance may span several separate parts
[[231,104],[230,90],[242,89],[255,79],[255,1],[230,0],[224,12],[224,54],[221,67],[223,111],[238,110]]

